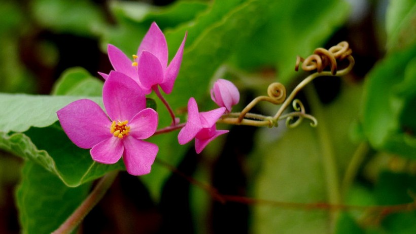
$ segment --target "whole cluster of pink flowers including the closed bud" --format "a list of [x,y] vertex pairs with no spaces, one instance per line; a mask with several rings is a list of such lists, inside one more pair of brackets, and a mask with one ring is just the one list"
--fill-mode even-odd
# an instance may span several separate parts
[[[106,112],[89,99],[60,109],[57,116],[68,138],[78,147],[90,149],[92,159],[97,162],[113,164],[123,157],[129,174],[150,173],[159,148],[143,140],[156,132],[158,113],[146,108],[146,95],[152,90],[159,93],[159,86],[165,93],[171,93],[186,37],[185,34],[169,64],[166,39],[156,23],[152,23],[132,60],[109,45],[108,55],[114,71],[99,73],[105,79],[102,99]],[[195,139],[197,153],[228,132],[217,130],[216,122],[239,101],[237,88],[223,79],[214,84],[211,97],[220,108],[209,112],[199,112],[195,99],[189,99],[188,120],[178,135],[182,145]]]

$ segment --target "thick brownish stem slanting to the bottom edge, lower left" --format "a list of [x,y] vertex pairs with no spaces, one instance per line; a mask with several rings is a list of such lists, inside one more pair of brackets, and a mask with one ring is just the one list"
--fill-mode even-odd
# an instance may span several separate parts
[[84,202],[52,234],[71,233],[106,194],[117,175],[118,171],[113,171],[103,176]]

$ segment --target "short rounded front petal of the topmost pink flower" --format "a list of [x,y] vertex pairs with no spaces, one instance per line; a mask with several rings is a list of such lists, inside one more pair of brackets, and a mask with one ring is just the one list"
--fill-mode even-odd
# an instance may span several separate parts
[[149,51],[143,51],[138,58],[137,74],[141,87],[146,94],[152,92],[152,86],[163,82],[163,68],[159,59]]

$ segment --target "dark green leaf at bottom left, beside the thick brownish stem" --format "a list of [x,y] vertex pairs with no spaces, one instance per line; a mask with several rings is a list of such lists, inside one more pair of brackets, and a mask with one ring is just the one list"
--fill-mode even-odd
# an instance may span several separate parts
[[51,233],[81,204],[91,183],[69,188],[42,166],[26,161],[16,192],[22,233]]

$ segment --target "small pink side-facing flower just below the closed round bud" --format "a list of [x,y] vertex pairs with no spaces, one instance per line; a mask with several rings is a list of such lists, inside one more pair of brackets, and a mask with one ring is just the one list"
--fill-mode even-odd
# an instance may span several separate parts
[[228,130],[217,130],[215,123],[224,114],[225,107],[208,112],[198,112],[193,97],[188,101],[188,121],[178,135],[179,144],[185,145],[195,138],[195,151],[200,153],[208,143]]

